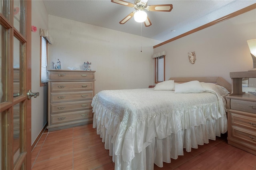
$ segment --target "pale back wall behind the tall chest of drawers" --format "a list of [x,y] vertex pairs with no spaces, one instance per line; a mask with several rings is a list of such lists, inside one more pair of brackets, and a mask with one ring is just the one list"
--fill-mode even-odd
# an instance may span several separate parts
[[48,65],[60,59],[62,69],[83,69],[84,62],[91,62],[95,93],[147,88],[154,82],[153,45],[160,41],[52,15],[49,33],[54,44],[48,46]]

